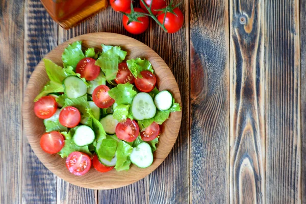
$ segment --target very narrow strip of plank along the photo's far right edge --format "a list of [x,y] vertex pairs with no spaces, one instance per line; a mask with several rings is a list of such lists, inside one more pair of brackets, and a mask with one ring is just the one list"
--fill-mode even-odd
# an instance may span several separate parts
[[[306,158],[306,1],[300,0],[301,158]],[[301,160],[301,199],[306,202],[306,160]]]

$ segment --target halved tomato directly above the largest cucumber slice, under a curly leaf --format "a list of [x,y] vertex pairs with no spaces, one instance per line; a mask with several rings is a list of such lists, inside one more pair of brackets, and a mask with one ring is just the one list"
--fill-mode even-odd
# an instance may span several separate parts
[[142,71],[140,72],[142,78],[136,78],[135,86],[141,92],[150,92],[154,89],[156,84],[156,77],[150,71]]

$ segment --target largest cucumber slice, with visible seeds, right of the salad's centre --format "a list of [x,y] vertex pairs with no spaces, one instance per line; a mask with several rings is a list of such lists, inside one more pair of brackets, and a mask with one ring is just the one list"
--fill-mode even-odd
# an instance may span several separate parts
[[156,107],[148,93],[137,93],[132,102],[132,114],[136,120],[150,119],[156,114]]

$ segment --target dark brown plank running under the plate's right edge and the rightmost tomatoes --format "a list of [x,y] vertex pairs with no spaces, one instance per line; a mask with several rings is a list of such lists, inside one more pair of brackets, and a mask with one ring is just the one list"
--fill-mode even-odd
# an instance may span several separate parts
[[182,125],[165,161],[149,175],[149,203],[189,203],[189,1],[179,7],[185,16],[182,29],[165,33],[151,20],[149,46],[171,69],[182,97]]

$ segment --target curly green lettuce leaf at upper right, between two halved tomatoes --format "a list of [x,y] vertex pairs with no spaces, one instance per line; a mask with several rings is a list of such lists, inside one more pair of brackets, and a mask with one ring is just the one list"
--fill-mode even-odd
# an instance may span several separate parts
[[129,67],[130,71],[134,75],[135,78],[142,78],[140,72],[141,71],[150,71],[154,73],[154,70],[152,69],[151,63],[144,59],[136,58],[126,61],[127,67]]

